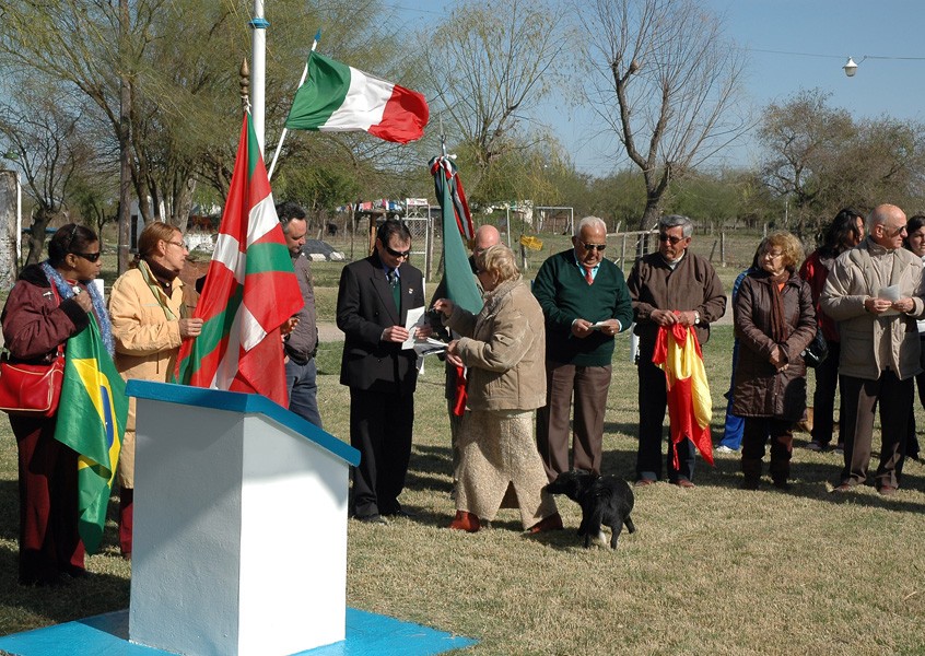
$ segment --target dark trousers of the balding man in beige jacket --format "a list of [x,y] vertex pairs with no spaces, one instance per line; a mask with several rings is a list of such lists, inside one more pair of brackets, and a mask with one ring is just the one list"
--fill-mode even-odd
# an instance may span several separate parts
[[874,435],[874,411],[880,405],[880,462],[877,485],[899,487],[902,456],[909,435],[909,408],[912,405],[913,379],[900,380],[891,371],[876,380],[842,376],[842,418],[845,437],[845,467],[842,483],[857,485],[867,479]]

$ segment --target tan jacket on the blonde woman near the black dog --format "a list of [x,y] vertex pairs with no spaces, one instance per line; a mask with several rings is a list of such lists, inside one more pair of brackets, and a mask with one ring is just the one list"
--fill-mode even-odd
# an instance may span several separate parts
[[539,303],[523,279],[487,292],[478,315],[459,307],[446,325],[463,337],[472,410],[534,410],[546,405],[546,328]]

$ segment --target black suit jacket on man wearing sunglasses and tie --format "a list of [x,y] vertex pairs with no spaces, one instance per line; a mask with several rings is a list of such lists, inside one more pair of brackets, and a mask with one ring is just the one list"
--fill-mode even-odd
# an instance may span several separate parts
[[337,295],[337,326],[344,332],[340,383],[384,394],[413,394],[418,382],[413,349],[382,341],[383,330],[403,326],[408,311],[424,305],[421,271],[405,262],[399,269],[401,308],[377,254],[343,268]]

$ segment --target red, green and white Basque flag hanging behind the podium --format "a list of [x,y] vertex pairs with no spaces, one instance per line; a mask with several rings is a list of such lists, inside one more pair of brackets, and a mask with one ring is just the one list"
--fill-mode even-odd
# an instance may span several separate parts
[[245,113],[219,238],[186,339],[178,383],[261,394],[289,407],[280,326],[304,302],[277,216],[257,137]]

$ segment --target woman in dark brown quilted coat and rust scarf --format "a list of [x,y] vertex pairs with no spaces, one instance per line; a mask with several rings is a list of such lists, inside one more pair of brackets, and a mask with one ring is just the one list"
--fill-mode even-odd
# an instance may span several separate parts
[[771,438],[771,479],[789,488],[793,425],[806,410],[806,364],[800,353],[816,335],[809,285],[795,273],[803,247],[789,233],[770,235],[759,270],[742,281],[735,305],[739,360],[733,411],[745,418],[742,489],[757,490]]

